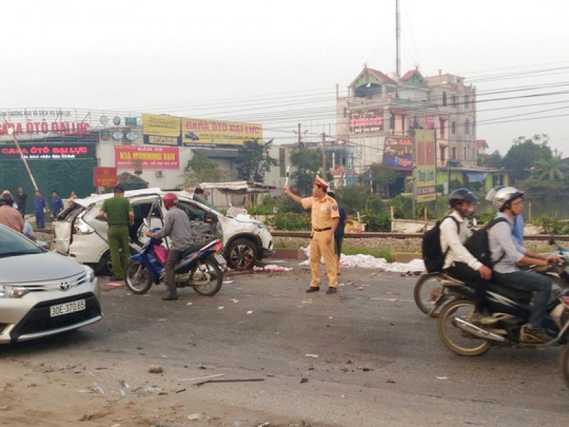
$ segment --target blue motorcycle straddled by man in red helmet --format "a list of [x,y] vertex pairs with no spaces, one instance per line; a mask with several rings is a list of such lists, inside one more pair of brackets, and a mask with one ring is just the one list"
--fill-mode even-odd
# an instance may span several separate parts
[[[156,231],[158,228],[152,230]],[[164,280],[168,250],[161,243],[161,239],[150,238],[139,253],[129,258],[124,282],[133,293],[142,295],[153,283],[159,285]],[[191,287],[206,297],[216,295],[223,283],[225,259],[219,254],[221,250],[221,241],[217,239],[198,250],[193,247],[184,251],[176,264],[176,287]]]

